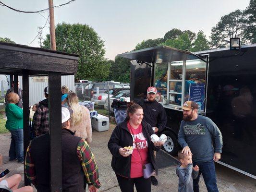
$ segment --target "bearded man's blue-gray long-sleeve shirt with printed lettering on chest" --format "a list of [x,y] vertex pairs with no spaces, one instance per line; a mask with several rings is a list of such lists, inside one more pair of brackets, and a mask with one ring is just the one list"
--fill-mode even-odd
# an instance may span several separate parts
[[217,125],[202,115],[198,115],[196,120],[182,120],[178,142],[182,148],[189,146],[193,161],[198,163],[213,160],[214,153],[221,153],[223,145]]

